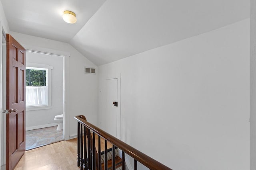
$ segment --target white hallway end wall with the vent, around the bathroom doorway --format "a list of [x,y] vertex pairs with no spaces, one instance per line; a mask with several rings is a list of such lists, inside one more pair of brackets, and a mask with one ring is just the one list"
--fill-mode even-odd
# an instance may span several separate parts
[[[85,115],[89,122],[97,124],[97,88],[98,77],[93,74],[84,74],[84,66],[96,67],[68,43],[53,41],[41,37],[25,35],[16,32],[10,34],[24,47],[34,46],[70,53],[69,57],[69,135],[77,134],[76,115]],[[97,68],[97,67],[96,67]]]

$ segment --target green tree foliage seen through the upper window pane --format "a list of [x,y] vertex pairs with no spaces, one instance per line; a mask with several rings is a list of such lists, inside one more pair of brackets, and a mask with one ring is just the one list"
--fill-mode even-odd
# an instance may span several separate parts
[[46,86],[46,70],[26,69],[26,86]]

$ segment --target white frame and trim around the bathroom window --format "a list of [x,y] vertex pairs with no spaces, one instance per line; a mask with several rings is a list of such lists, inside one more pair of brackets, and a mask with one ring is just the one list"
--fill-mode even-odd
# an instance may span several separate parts
[[26,111],[30,110],[41,110],[41,109],[51,109],[52,108],[52,69],[53,67],[47,64],[39,63],[26,63],[26,69],[34,70],[46,70],[46,86],[48,86],[48,105],[42,106],[26,106]]

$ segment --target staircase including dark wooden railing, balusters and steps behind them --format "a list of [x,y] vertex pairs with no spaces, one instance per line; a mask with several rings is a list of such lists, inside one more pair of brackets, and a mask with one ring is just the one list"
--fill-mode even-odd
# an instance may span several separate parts
[[[137,170],[137,162],[140,162],[150,170],[172,170],[157,160],[154,160],[139,150],[89,123],[86,121],[86,117],[84,115],[78,115],[75,119],[78,121],[77,166],[80,167],[80,170],[125,170],[126,154],[134,159],[134,170]],[[91,131],[93,132],[93,135],[91,134]],[[88,140],[85,139],[87,137]],[[115,149],[114,153],[112,148]],[[113,164],[115,161],[115,166],[113,167],[112,153],[115,154],[113,158],[115,159],[113,160]],[[118,156],[119,153],[122,153],[122,159]],[[104,161],[105,155],[107,156],[106,161]],[[104,164],[105,162],[107,165]]]

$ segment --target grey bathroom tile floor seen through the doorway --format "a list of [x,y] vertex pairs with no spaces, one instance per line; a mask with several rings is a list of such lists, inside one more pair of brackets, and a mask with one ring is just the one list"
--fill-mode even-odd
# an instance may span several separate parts
[[34,149],[63,140],[63,130],[57,126],[26,131],[26,150]]

